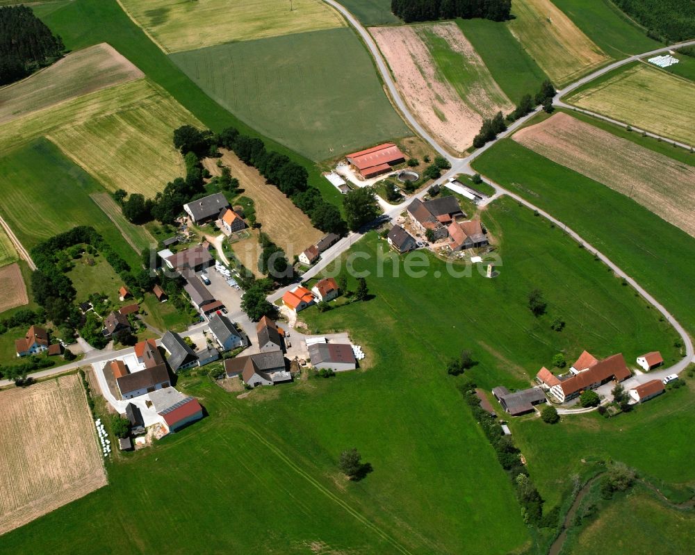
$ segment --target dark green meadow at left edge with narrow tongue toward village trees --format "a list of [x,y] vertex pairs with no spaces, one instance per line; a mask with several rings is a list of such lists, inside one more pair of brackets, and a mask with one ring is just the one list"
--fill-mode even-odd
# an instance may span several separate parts
[[138,264],[140,257],[90,199],[94,192],[103,192],[99,183],[47,140],[0,158],[0,211],[26,249],[74,226],[90,225],[131,265]]

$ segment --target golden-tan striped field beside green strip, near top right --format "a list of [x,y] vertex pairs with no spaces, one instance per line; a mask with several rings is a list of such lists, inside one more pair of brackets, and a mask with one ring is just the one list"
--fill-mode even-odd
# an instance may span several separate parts
[[509,29],[557,87],[611,58],[550,0],[516,0]]

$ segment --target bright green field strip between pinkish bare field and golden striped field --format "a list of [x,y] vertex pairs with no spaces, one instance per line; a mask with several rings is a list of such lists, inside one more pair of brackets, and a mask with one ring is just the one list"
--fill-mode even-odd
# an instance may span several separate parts
[[524,94],[534,94],[541,88],[546,74],[507,25],[489,19],[457,19],[456,23],[512,102],[518,103]]

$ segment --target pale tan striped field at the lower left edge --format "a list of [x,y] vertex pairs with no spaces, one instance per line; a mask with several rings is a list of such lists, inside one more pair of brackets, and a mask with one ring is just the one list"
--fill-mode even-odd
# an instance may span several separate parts
[[0,392],[0,534],[106,486],[79,376]]

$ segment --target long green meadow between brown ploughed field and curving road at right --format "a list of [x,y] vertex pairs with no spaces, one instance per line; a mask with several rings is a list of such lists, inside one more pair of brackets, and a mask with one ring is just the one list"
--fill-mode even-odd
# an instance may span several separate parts
[[[687,233],[623,194],[509,139],[486,151],[473,167],[566,222],[695,333],[690,293],[695,239]],[[660,238],[656,243],[655,236]]]

